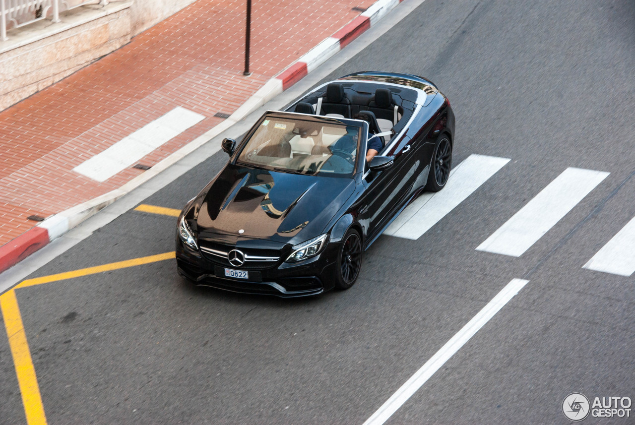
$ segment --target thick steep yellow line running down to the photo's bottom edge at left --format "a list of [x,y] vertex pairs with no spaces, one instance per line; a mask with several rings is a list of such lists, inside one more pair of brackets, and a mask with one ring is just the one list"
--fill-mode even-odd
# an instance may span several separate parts
[[22,403],[24,412],[27,415],[27,423],[29,425],[46,425],[42,397],[37,385],[36,370],[33,367],[27,335],[24,332],[18,299],[15,297],[13,289],[4,292],[0,296],[0,308],[2,308],[6,334],[9,337],[13,365],[15,365],[15,373],[20,384],[20,393],[22,393]]

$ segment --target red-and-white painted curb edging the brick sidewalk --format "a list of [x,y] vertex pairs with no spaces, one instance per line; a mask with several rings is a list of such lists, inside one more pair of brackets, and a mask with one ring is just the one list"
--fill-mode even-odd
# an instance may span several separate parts
[[[128,183],[120,188],[67,209],[62,213],[55,214],[34,228],[22,233],[22,235],[11,240],[11,242],[0,246],[0,273],[16,265],[33,252],[49,244],[52,240],[64,235],[64,233],[79,225],[79,223],[86,218],[97,214],[101,209],[109,206],[117,199],[126,195],[126,193],[131,192],[131,190],[150,180],[150,178],[156,176],[156,174],[164,171],[205,143],[208,143],[212,138],[215,138],[218,134],[224,132],[254,110],[262,107],[265,103],[300,81],[309,74],[309,72],[326,62],[326,60],[338,53],[347,46],[347,44],[363,34],[364,31],[375,25],[378,20],[383,18],[402,1],[403,0],[378,0],[373,3],[370,8],[344,25],[344,27],[333,34],[333,36],[321,41],[295,63],[283,70],[283,72],[267,81],[262,88],[243,103],[229,118],[225,119],[225,121],[218,124],[215,128],[197,137],[177,150],[174,154],[161,160],[161,162],[152,166],[148,171],[128,181]],[[220,143],[218,144],[218,149],[220,150]]]

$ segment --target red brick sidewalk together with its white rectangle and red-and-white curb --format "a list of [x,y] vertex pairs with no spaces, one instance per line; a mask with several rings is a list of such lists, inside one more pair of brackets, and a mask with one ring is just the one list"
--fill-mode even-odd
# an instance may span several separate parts
[[[222,133],[398,4],[254,2],[245,77],[244,0],[199,0],[1,112],[0,271]],[[132,163],[108,169],[117,147],[99,154],[135,140]]]

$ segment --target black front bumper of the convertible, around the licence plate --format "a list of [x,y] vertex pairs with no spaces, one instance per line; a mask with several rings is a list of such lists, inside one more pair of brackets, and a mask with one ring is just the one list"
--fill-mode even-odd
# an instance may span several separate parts
[[[178,274],[195,285],[283,298],[321,294],[335,287],[338,244],[328,244],[319,256],[298,263],[284,263],[279,260],[271,265],[250,268],[227,265],[223,261],[201,254],[200,251],[193,251],[185,247],[178,237],[176,242]],[[225,268],[248,271],[250,279],[225,277]]]

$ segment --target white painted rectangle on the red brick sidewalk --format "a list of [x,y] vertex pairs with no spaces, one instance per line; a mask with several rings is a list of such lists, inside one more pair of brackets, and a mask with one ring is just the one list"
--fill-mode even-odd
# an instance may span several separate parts
[[73,171],[93,180],[108,180],[204,118],[196,112],[176,107],[91,159],[85,160]]

